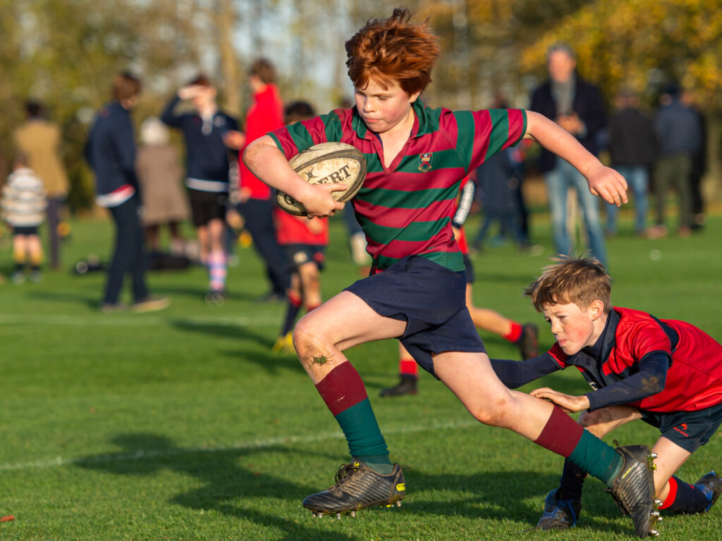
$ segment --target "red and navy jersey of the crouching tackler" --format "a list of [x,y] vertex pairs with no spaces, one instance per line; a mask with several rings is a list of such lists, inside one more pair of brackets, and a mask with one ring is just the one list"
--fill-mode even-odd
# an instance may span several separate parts
[[690,323],[658,320],[638,310],[614,307],[609,317],[612,322],[602,338],[599,359],[584,351],[567,356],[559,344],[547,354],[562,369],[577,366],[592,387],[600,388],[635,374],[645,356],[665,353],[671,365],[664,390],[629,405],[664,413],[722,403],[722,346],[716,340]]

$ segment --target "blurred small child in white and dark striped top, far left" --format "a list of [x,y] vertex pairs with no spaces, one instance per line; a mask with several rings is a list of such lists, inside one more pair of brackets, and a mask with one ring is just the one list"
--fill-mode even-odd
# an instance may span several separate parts
[[43,181],[30,169],[30,158],[18,154],[13,172],[2,190],[2,218],[12,227],[13,283],[25,281],[25,268],[30,263],[30,281],[39,282],[43,263],[43,245],[38,227],[45,218]]

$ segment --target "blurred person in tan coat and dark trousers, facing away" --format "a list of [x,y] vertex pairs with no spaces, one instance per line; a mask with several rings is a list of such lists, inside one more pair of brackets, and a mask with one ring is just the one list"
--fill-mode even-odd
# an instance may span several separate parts
[[61,209],[68,194],[68,176],[60,159],[60,126],[45,118],[43,104],[30,100],[25,103],[27,120],[14,133],[17,149],[30,160],[30,169],[43,180],[48,198],[48,241],[50,266],[60,266],[60,241],[58,225]]

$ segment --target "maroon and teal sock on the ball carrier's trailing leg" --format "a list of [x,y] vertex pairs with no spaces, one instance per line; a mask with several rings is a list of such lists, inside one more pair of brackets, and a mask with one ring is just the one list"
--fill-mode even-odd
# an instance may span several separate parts
[[582,428],[557,406],[554,406],[552,415],[534,443],[561,454],[608,486],[612,486],[622,469],[622,457],[614,451],[614,447]]

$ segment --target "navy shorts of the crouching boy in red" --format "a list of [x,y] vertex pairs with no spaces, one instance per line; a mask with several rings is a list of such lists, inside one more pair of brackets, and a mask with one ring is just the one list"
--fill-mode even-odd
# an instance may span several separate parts
[[659,428],[662,436],[690,453],[710,441],[722,424],[722,404],[697,411],[659,413],[640,410],[639,413],[643,421]]

